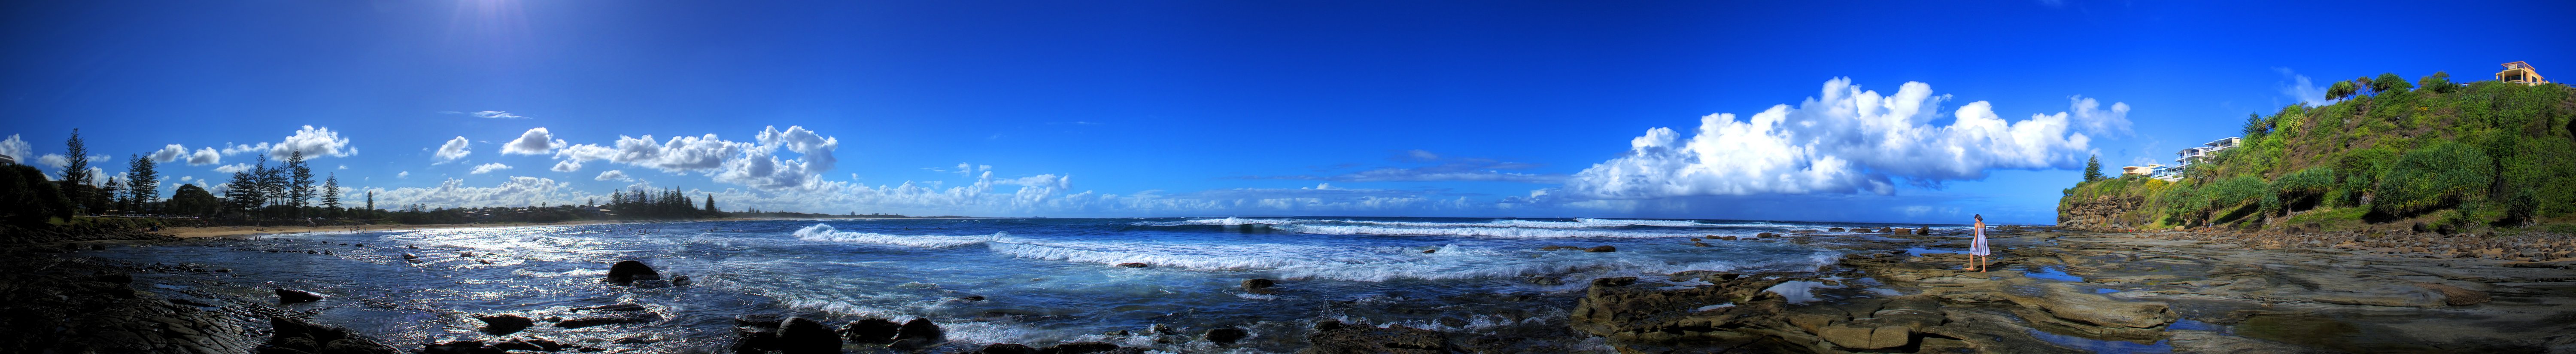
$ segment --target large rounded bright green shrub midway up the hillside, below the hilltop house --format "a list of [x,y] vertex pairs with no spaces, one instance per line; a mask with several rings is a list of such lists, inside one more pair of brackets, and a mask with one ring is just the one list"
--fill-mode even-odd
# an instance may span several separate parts
[[2370,212],[2419,214],[2483,196],[2496,181],[2496,163],[2478,147],[2439,142],[2398,155],[2388,173],[2378,178],[2378,199]]

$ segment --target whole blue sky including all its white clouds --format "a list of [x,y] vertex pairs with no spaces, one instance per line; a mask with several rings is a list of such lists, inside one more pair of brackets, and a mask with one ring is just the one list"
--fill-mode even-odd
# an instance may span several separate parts
[[0,152],[180,145],[175,186],[304,150],[379,207],[2053,222],[2087,152],[2576,65],[2571,3],[0,8]]

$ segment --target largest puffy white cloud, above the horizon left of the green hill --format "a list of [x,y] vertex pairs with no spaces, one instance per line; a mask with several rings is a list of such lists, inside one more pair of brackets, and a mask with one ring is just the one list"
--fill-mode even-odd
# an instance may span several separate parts
[[2069,98],[2071,111],[2022,121],[1973,101],[1950,111],[1947,127],[1935,127],[1947,98],[1924,83],[1880,96],[1834,78],[1798,106],[1772,106],[1749,119],[1700,116],[1687,140],[1674,129],[1646,129],[1625,155],[1574,173],[1546,196],[1893,194],[1891,178],[1937,186],[1986,178],[1996,168],[2074,168],[2092,142],[2084,132],[2128,132],[2128,103],[2102,109],[2081,96]]

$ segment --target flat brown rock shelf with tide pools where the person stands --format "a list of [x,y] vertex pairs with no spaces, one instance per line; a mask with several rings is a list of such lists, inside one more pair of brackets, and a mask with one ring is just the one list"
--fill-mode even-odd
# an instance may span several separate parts
[[1592,279],[1571,328],[1620,351],[2576,351],[2576,261],[2522,258],[2563,238],[1989,235],[1996,271],[1888,235],[1814,240],[1855,251],[1816,274]]

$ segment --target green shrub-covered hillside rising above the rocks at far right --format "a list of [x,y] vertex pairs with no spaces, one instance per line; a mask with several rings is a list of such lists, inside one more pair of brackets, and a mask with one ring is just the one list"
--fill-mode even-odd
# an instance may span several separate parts
[[2576,90],[2421,83],[2249,116],[2244,145],[2174,183],[2076,183],[2058,225],[2576,233]]

